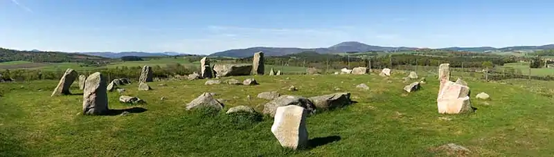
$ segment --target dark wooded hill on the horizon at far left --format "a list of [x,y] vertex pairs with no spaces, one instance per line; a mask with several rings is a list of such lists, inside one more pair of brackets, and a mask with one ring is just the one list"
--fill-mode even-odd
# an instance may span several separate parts
[[105,57],[39,50],[12,50],[0,48],[0,62],[95,62],[109,60]]

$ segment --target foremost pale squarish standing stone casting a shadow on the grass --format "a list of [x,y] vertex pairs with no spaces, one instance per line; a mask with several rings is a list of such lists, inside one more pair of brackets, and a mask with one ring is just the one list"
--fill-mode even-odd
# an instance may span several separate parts
[[303,107],[294,105],[277,108],[271,133],[274,134],[281,146],[291,149],[307,147],[307,114],[308,111]]

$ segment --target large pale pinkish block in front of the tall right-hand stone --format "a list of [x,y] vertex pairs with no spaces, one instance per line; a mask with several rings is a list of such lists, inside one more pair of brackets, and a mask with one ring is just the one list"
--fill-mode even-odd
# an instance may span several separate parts
[[438,93],[438,113],[468,113],[472,112],[470,97],[467,94],[470,88],[448,80],[441,80],[441,89]]

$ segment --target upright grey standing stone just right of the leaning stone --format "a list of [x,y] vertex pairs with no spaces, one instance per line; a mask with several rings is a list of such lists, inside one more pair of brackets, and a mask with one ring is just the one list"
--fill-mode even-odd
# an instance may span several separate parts
[[108,95],[106,91],[107,81],[101,73],[93,73],[84,82],[84,93],[82,95],[82,113],[84,115],[107,114]]

